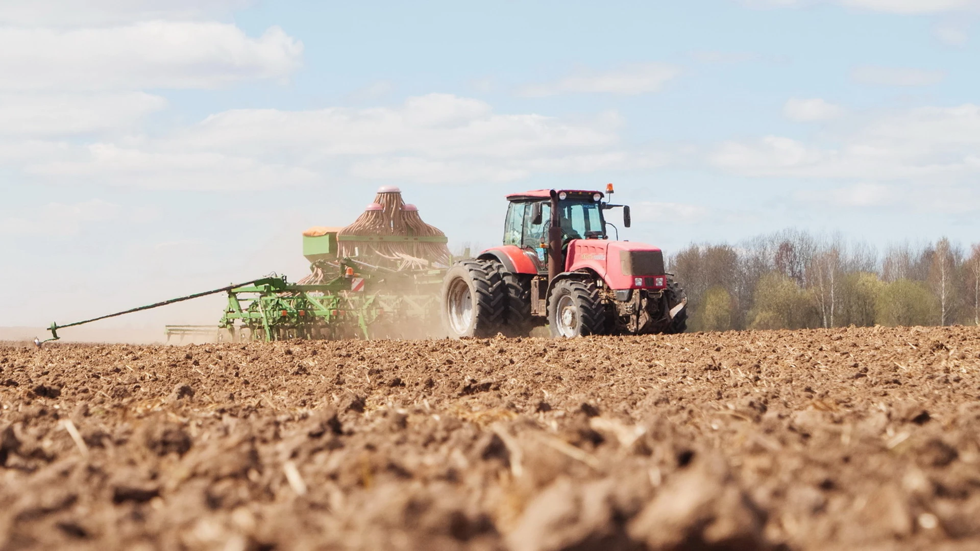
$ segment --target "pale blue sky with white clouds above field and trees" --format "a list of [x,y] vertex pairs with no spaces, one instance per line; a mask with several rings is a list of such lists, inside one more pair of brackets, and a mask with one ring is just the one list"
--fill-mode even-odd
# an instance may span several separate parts
[[76,4],[0,6],[0,326],[299,278],[386,184],[456,247],[608,181],[667,253],[980,241],[980,1]]

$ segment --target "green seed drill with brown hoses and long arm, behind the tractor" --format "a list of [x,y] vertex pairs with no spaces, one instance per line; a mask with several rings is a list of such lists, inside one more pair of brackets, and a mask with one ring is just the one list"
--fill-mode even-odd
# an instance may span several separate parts
[[[310,275],[295,283],[269,275],[218,289],[50,327],[88,324],[202,296],[226,293],[220,340],[411,338],[439,327],[439,292],[450,265],[445,234],[422,222],[401,190],[381,187],[365,212],[346,227],[303,232]],[[200,332],[199,326],[195,332]]]

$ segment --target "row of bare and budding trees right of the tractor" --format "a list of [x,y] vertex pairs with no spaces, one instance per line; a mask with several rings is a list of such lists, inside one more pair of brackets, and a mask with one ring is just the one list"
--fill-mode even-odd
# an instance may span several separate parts
[[787,229],[667,259],[691,330],[980,325],[980,244],[943,237],[879,253],[840,235]]

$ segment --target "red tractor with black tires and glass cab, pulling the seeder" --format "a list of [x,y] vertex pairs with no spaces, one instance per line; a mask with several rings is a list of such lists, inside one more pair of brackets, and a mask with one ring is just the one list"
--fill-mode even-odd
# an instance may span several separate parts
[[664,271],[661,249],[610,240],[604,213],[622,208],[629,227],[629,207],[605,198],[579,189],[508,195],[504,244],[446,274],[450,335],[522,336],[545,321],[554,337],[683,332],[687,298]]

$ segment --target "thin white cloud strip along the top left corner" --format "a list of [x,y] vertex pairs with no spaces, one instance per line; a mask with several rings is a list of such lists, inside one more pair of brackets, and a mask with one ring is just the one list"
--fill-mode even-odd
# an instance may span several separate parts
[[0,4],[0,24],[89,26],[188,21],[222,17],[253,3],[251,0],[5,0]]

